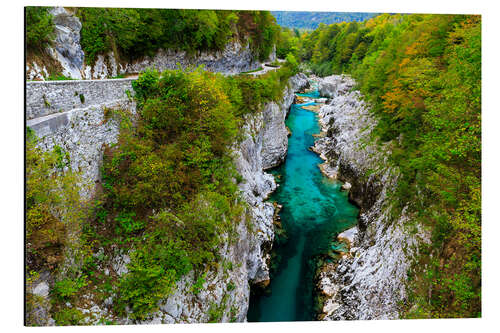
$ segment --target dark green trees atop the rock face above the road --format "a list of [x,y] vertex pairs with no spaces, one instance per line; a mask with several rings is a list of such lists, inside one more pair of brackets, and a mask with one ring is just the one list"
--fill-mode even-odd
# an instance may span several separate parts
[[82,22],[81,45],[89,64],[109,51],[134,60],[152,56],[159,48],[189,54],[223,50],[233,35],[250,42],[264,60],[278,29],[272,15],[263,11],[81,7],[76,15]]

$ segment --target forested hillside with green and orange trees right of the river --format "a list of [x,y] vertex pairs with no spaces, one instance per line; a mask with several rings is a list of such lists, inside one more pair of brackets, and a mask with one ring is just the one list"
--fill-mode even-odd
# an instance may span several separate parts
[[407,315],[480,316],[481,17],[384,14],[301,37],[314,72],[356,78],[401,171],[395,213],[432,229]]

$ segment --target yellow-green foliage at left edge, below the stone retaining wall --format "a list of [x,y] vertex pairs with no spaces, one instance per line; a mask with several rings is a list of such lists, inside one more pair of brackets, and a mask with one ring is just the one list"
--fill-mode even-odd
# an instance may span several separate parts
[[26,140],[26,251],[29,270],[55,269],[62,260],[66,232],[74,232],[84,218],[75,184],[77,174],[62,168],[69,156],[59,146],[43,152],[27,129]]

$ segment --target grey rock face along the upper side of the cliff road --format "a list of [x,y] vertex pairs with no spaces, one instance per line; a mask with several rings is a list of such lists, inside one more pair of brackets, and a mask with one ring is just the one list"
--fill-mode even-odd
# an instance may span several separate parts
[[[227,43],[222,51],[198,52],[188,54],[185,51],[158,50],[153,56],[145,56],[139,60],[120,61],[113,52],[101,54],[93,65],[85,64],[85,55],[80,45],[80,30],[82,24],[78,17],[63,7],[54,7],[50,11],[55,24],[56,38],[53,46],[47,48],[47,54],[61,67],[64,76],[78,79],[106,79],[118,75],[137,74],[146,68],[156,68],[159,71],[175,69],[178,65],[204,65],[206,70],[234,74],[258,68],[260,62],[254,56],[249,44],[242,45],[237,40]],[[276,48],[269,61],[276,59]],[[31,61],[26,66],[27,80],[46,80],[49,77],[46,66],[37,61]]]

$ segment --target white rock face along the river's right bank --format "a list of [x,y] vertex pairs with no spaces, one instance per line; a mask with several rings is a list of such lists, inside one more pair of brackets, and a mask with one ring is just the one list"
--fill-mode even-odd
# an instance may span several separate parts
[[[350,198],[361,208],[359,226],[339,235],[351,243],[349,255],[320,274],[318,286],[324,294],[339,290],[327,296],[324,320],[396,319],[398,302],[407,295],[406,273],[428,234],[420,226],[406,227],[411,216],[404,213],[391,219],[387,194],[397,185],[398,172],[387,163],[390,146],[370,142],[376,120],[360,93],[350,91],[353,86],[346,76],[319,83],[320,92],[332,99],[320,109],[327,135],[316,141],[315,150],[326,156],[339,179],[352,184]],[[367,177],[369,170],[375,172]]]

